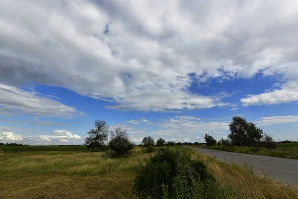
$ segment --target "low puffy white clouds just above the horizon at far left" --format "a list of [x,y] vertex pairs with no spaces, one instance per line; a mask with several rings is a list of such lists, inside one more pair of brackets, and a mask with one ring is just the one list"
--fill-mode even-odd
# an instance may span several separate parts
[[57,140],[59,142],[69,142],[74,139],[81,139],[81,136],[73,134],[68,130],[54,130],[54,135],[36,135],[36,136],[25,136],[16,135],[12,132],[0,133],[0,141],[21,141],[21,140],[33,140],[33,141],[46,141],[51,142]]

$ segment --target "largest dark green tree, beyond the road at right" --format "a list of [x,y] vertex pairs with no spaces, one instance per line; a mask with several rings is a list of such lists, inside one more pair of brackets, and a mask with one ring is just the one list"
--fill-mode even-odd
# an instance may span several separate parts
[[229,124],[230,134],[228,138],[232,145],[253,146],[263,138],[263,130],[256,127],[253,122],[247,122],[240,116],[234,116]]

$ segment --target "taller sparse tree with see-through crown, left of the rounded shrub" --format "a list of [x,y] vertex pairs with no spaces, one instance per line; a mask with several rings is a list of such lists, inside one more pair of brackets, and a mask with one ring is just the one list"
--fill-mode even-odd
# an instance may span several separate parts
[[104,120],[95,120],[94,126],[95,129],[91,129],[87,132],[85,138],[85,145],[89,148],[94,149],[103,149],[104,142],[108,140],[108,132],[110,126]]

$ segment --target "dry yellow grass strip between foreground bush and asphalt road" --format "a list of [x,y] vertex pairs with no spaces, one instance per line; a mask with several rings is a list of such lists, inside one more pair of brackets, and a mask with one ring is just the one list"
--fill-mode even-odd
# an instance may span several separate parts
[[195,159],[207,163],[217,182],[232,192],[232,199],[298,199],[298,189],[257,176],[250,166],[239,166],[214,157],[191,152]]

